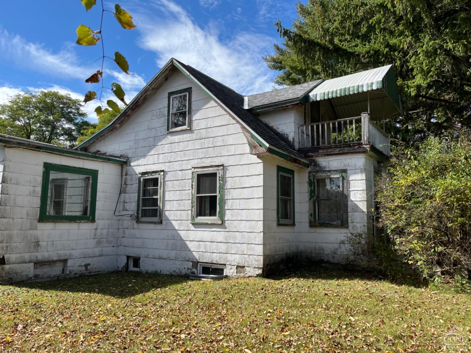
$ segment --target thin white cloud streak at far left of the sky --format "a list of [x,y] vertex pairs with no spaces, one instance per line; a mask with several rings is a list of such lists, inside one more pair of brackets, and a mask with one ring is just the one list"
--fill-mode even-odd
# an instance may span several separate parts
[[0,28],[0,57],[14,62],[21,67],[34,71],[83,79],[90,71],[81,66],[71,46],[65,46],[57,53],[52,53],[41,44],[24,40],[17,34],[10,34]]

